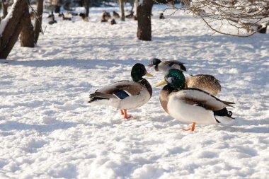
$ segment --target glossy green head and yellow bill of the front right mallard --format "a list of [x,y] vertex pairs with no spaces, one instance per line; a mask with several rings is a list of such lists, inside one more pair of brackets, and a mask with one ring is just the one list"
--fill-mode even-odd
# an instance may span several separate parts
[[168,85],[171,86],[172,88],[181,90],[185,87],[185,82],[186,79],[182,71],[178,69],[169,69],[166,76],[164,76],[164,81],[161,81],[160,83],[156,84],[156,87],[168,83]]

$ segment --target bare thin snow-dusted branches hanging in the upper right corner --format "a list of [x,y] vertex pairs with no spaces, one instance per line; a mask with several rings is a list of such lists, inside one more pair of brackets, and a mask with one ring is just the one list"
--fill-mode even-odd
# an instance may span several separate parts
[[182,7],[185,11],[202,18],[202,21],[217,33],[248,37],[269,25],[268,0],[182,0],[182,2],[185,4]]

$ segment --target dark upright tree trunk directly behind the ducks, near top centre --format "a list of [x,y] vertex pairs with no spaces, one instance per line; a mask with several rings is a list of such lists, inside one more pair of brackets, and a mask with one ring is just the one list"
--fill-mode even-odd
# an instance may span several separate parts
[[137,37],[139,40],[151,40],[151,9],[153,0],[143,0],[137,6]]

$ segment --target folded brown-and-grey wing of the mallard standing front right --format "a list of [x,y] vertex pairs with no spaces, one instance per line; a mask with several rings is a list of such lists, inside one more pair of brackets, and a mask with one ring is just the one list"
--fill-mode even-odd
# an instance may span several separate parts
[[179,100],[184,100],[185,103],[190,105],[198,105],[207,110],[222,110],[228,106],[233,107],[234,104],[229,101],[219,100],[209,93],[197,88],[186,88],[176,92],[176,97]]

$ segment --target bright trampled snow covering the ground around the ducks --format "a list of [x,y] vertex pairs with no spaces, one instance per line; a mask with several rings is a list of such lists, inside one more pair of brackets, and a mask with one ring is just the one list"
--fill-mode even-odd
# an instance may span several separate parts
[[[182,11],[159,20],[152,41],[137,40],[137,22],[74,17],[48,25],[38,47],[19,42],[0,64],[0,178],[268,178],[269,38],[230,37]],[[83,9],[77,9],[83,11]],[[165,15],[171,13],[165,12]],[[45,28],[46,26],[46,28]],[[219,98],[236,103],[233,125],[198,125],[195,132],[167,115],[149,69],[153,96],[124,120],[115,108],[87,103],[88,94],[122,79],[153,57],[185,62],[189,74],[212,74]]]

